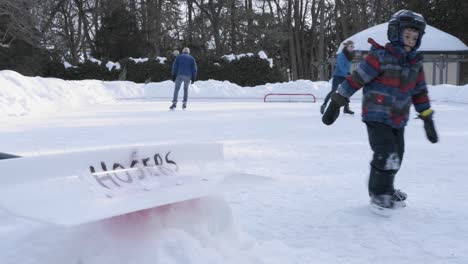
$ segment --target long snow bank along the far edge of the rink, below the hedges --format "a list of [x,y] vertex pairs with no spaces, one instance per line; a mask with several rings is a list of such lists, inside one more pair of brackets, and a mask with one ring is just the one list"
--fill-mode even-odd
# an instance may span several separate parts
[[[84,107],[119,99],[172,98],[174,83],[137,84],[128,81],[64,81],[25,77],[14,71],[0,71],[0,117],[35,115]],[[198,81],[189,88],[190,98],[258,99],[268,93],[312,93],[323,98],[329,82],[298,80],[287,83],[241,87],[227,81]],[[432,100],[468,103],[468,85],[429,86]],[[358,92],[353,99],[359,99]]]

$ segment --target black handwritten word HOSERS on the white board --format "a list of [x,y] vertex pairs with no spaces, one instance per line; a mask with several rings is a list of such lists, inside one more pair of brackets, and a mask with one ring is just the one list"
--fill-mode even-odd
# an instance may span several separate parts
[[179,166],[171,157],[171,152],[154,153],[139,158],[136,151],[131,153],[129,161],[98,162],[90,165],[92,177],[82,177],[98,193],[107,197],[149,191],[152,188],[180,184],[177,181]]

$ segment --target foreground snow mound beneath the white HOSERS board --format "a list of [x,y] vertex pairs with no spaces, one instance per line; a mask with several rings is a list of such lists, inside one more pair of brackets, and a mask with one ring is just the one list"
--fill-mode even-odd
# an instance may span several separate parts
[[[0,253],[2,264],[280,264],[294,258],[280,242],[260,245],[240,232],[221,197],[161,206],[74,228],[42,227],[5,246]],[[262,250],[270,253],[262,254]]]

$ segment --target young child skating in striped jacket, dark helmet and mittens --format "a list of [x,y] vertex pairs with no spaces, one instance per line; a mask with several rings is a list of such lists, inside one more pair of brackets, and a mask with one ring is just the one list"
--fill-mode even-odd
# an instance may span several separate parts
[[322,122],[331,125],[340,107],[363,89],[362,120],[367,126],[373,151],[370,163],[369,196],[379,210],[405,206],[406,193],[395,189],[393,182],[404,153],[404,128],[411,104],[424,121],[430,142],[438,141],[423,71],[421,45],[426,22],[409,10],[396,12],[388,23],[390,43],[384,47],[369,39],[372,45],[367,57],[332,95]]

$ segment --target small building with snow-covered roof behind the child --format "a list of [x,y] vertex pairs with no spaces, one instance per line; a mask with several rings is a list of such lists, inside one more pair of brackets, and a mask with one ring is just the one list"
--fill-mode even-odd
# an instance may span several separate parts
[[[376,25],[346,39],[354,41],[356,62],[353,67],[369,51],[371,47],[367,42],[369,38],[382,46],[388,42],[387,27],[388,23]],[[461,63],[468,62],[468,46],[460,39],[435,27],[427,25],[425,31],[418,51],[424,55],[426,82],[432,85],[442,83],[460,85],[460,82],[467,78],[462,76]],[[338,48],[337,54],[342,48],[343,44]]]

